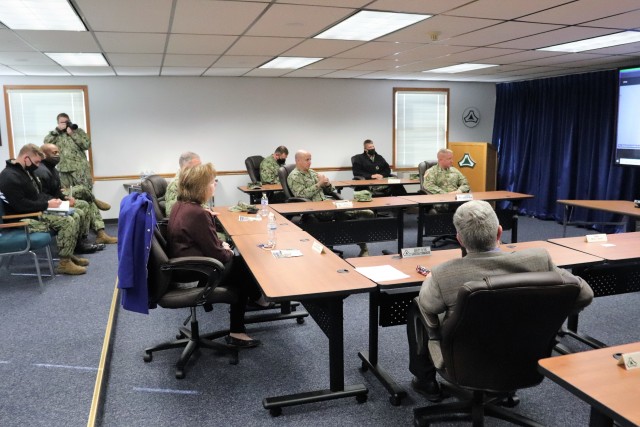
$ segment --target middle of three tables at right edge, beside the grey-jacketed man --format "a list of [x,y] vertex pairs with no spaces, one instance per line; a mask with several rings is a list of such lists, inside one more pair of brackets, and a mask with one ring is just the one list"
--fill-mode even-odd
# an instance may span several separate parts
[[[595,297],[640,291],[640,232],[607,234],[603,242],[588,242],[582,237],[549,239],[556,245],[600,257],[604,263],[574,269],[574,273],[589,283]],[[579,314],[567,321],[567,335],[594,348],[605,347],[602,341],[578,333]]]

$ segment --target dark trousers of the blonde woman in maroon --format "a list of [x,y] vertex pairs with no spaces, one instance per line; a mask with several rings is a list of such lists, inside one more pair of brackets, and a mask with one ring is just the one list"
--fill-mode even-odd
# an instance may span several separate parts
[[220,285],[233,289],[238,295],[238,300],[229,306],[229,332],[245,332],[244,313],[247,301],[258,300],[261,291],[242,257],[234,256],[225,264],[225,274]]

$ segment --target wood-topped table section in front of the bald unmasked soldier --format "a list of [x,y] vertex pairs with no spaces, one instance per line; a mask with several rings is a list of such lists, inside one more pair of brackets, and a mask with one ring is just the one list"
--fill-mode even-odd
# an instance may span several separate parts
[[393,211],[395,217],[347,221],[301,221],[298,225],[327,246],[346,245],[362,242],[398,241],[398,252],[404,245],[404,209],[415,207],[415,202],[402,197],[374,197],[369,202],[352,201],[350,206],[340,207],[343,200],[322,200],[319,202],[277,203],[269,207],[284,216],[309,215],[317,213],[339,213],[370,209],[373,211]]

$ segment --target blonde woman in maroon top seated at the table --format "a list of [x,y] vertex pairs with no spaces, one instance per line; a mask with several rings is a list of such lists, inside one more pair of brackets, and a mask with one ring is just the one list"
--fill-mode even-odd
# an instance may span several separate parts
[[218,238],[213,212],[202,207],[215,193],[215,178],[216,171],[211,163],[187,167],[180,172],[178,201],[169,217],[169,256],[206,256],[224,264],[221,285],[233,288],[238,294],[238,302],[230,307],[229,335],[225,340],[229,345],[255,347],[260,341],[246,334],[244,313],[248,298],[252,301],[261,299],[260,289],[244,260],[234,257],[229,244]]

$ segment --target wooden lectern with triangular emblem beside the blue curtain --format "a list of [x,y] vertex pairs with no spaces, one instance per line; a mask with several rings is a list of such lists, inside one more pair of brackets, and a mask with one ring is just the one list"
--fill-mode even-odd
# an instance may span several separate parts
[[449,142],[453,166],[469,181],[471,191],[495,191],[498,154],[488,142]]

